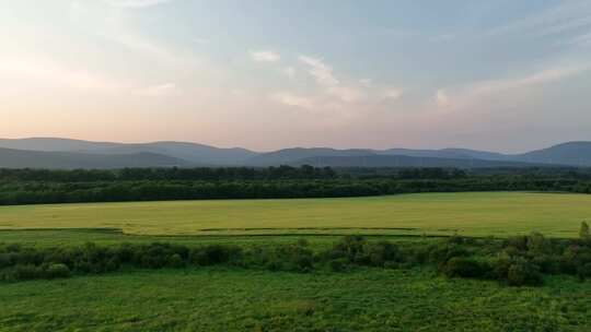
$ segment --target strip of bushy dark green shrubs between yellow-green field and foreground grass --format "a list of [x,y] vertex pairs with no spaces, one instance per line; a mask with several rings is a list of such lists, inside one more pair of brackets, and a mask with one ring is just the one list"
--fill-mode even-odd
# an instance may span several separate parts
[[163,269],[229,265],[270,271],[341,272],[356,266],[410,269],[437,266],[450,277],[498,280],[513,286],[540,285],[543,274],[591,277],[591,241],[546,239],[534,233],[506,240],[453,236],[438,242],[368,241],[346,236],[329,247],[311,246],[305,239],[296,244],[237,246],[209,244],[120,244],[96,246],[88,242],[72,247],[0,246],[0,281],[103,274],[125,268]]

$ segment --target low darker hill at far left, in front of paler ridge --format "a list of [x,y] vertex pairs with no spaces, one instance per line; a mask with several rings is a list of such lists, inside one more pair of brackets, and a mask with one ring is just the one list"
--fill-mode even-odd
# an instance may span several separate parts
[[154,154],[86,154],[0,149],[0,168],[123,168],[188,166],[185,161]]

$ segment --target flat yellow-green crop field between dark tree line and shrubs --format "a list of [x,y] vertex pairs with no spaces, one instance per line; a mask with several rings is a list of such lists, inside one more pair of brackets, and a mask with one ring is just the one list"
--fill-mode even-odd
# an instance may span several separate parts
[[419,193],[302,200],[220,200],[0,208],[0,229],[117,228],[134,235],[381,234],[577,236],[591,195]]

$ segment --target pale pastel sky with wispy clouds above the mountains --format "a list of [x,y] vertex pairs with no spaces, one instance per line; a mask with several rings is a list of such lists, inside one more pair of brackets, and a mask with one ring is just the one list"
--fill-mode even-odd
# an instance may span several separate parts
[[589,0],[0,0],[0,137],[591,140]]

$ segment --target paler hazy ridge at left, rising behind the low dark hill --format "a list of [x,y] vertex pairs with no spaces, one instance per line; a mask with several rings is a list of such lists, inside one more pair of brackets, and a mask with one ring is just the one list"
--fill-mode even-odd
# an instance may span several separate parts
[[4,139],[0,140],[0,147],[45,152],[81,152],[86,154],[152,153],[184,159],[196,165],[239,165],[247,158],[257,155],[256,152],[246,149],[219,149],[186,142],[127,144],[54,138]]

